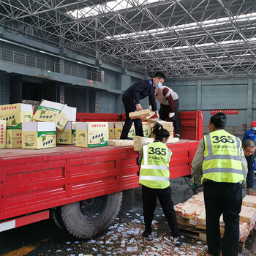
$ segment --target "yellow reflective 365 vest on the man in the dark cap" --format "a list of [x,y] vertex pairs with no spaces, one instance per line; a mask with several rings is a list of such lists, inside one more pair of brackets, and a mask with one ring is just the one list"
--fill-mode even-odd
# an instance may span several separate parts
[[241,140],[224,129],[204,136],[203,177],[216,182],[238,183],[244,180]]

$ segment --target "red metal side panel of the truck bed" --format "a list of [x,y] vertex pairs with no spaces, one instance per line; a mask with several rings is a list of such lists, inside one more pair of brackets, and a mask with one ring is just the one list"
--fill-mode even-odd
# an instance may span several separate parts
[[[197,140],[168,144],[170,178],[190,174]],[[138,187],[132,146],[0,151],[0,220]]]

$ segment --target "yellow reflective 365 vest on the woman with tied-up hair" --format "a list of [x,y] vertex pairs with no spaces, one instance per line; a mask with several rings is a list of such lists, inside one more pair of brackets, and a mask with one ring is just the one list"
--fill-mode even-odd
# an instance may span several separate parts
[[143,146],[140,168],[140,185],[152,189],[165,189],[170,186],[169,162],[172,151],[162,142]]

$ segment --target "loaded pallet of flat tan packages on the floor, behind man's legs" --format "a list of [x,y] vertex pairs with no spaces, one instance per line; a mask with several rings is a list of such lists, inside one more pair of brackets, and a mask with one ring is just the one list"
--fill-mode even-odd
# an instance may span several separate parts
[[[184,235],[206,241],[206,210],[203,200],[203,192],[193,195],[185,203],[174,206],[179,228]],[[246,195],[243,200],[240,213],[240,242],[244,246],[246,238],[252,232],[256,222],[256,197]],[[219,219],[220,233],[225,232],[223,217]],[[187,232],[186,232],[187,231]],[[189,233],[188,233],[189,231]]]

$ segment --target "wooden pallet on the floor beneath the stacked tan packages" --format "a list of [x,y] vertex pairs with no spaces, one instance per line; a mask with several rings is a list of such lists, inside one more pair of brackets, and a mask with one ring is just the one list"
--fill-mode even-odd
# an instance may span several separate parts
[[[192,225],[182,225],[180,222],[181,221],[178,221],[178,228],[180,230],[181,235],[188,236],[190,238],[195,238],[200,241],[206,242],[206,230],[198,229],[195,226],[192,227]],[[252,235],[252,233],[253,233],[253,227],[249,230],[249,233],[246,236],[243,236],[240,238],[239,246],[238,246],[239,252],[244,251],[246,239],[248,238],[248,236]]]

